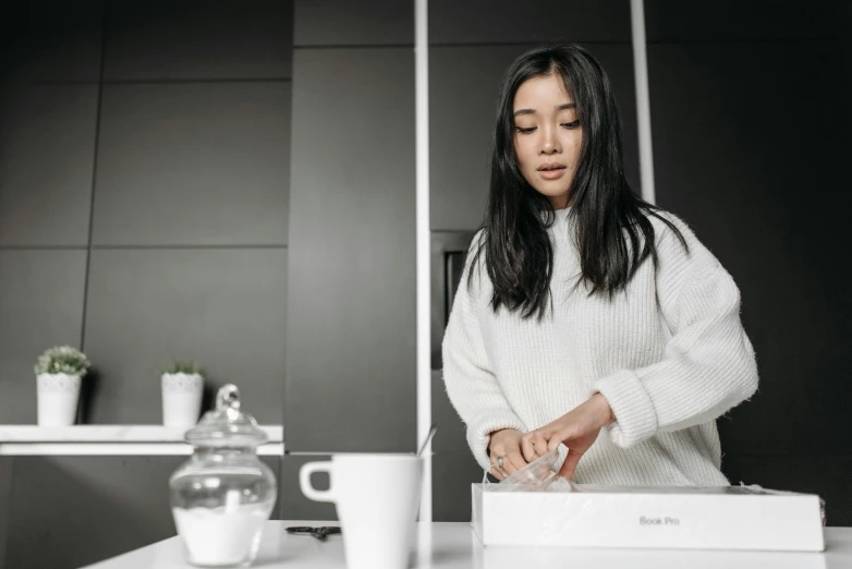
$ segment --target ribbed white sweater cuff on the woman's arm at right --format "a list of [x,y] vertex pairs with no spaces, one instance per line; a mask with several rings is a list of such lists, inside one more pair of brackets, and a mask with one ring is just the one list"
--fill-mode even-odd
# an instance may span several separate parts
[[609,437],[628,448],[657,433],[657,412],[650,395],[630,370],[622,370],[595,383],[595,392],[607,398],[616,421],[607,426]]

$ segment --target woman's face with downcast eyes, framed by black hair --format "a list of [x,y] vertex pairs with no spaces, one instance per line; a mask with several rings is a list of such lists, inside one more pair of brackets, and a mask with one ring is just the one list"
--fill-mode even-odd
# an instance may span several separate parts
[[570,205],[583,131],[576,105],[557,74],[526,80],[514,96],[514,149],[526,181],[555,209]]

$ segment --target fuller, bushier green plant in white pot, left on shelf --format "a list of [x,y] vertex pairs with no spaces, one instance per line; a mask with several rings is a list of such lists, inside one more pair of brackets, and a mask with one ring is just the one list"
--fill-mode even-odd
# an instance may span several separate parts
[[38,424],[41,426],[73,425],[77,416],[81,378],[92,362],[71,346],[57,346],[38,356],[36,394]]

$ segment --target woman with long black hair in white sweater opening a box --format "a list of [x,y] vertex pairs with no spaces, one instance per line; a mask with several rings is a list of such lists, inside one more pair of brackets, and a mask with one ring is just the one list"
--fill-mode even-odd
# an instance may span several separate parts
[[629,186],[614,97],[586,50],[514,61],[490,170],[442,346],[477,461],[503,479],[560,448],[579,483],[727,485],[715,420],[757,389],[740,292]]

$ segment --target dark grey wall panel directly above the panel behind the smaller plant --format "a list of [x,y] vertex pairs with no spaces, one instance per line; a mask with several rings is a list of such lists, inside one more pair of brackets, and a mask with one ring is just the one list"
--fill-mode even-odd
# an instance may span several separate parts
[[287,243],[289,83],[107,85],[93,242]]

